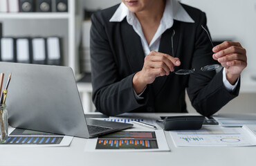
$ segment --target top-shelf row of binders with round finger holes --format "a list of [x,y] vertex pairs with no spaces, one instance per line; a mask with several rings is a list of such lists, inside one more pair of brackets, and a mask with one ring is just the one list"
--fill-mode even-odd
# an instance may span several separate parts
[[0,0],[0,12],[68,12],[68,0]]

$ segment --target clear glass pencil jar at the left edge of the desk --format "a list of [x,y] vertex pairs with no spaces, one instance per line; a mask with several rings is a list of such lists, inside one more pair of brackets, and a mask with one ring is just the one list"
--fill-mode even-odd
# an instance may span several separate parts
[[0,127],[0,143],[4,143],[8,138],[8,111],[6,104],[0,106]]

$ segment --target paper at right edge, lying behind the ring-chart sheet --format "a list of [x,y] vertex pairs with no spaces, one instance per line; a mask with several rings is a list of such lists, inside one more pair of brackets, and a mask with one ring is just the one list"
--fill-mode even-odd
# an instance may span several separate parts
[[228,114],[222,113],[214,116],[221,126],[241,127],[244,124],[256,124],[256,114]]

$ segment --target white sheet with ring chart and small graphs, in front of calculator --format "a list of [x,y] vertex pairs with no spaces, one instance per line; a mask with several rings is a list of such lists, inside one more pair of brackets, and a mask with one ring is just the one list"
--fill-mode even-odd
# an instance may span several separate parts
[[203,126],[200,130],[169,131],[177,147],[254,146],[256,139],[242,127]]

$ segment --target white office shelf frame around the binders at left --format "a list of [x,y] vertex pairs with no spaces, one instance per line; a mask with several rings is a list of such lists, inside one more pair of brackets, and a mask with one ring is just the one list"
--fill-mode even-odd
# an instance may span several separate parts
[[82,25],[82,0],[69,0],[68,12],[0,12],[3,37],[62,38],[64,66],[70,66],[75,75],[78,70],[78,45]]

